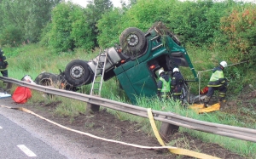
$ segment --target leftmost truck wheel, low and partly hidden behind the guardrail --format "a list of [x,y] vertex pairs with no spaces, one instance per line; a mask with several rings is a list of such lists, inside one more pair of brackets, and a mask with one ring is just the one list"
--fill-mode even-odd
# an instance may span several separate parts
[[42,86],[53,86],[58,82],[58,77],[49,72],[43,72],[36,77],[35,83]]

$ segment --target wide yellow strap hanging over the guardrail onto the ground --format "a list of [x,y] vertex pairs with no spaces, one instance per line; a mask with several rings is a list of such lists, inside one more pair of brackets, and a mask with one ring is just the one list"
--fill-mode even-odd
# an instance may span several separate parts
[[[149,122],[151,123],[151,127],[154,131],[154,136],[156,137],[156,139],[158,140],[160,145],[165,146],[165,143],[161,139],[160,134],[159,134],[159,132],[156,128],[151,108],[148,108],[148,118],[149,118]],[[216,156],[209,156],[207,154],[202,154],[202,153],[195,152],[195,151],[192,151],[192,150],[179,149],[177,147],[168,148],[168,150],[170,152],[174,153],[174,154],[177,154],[177,155],[193,156],[193,157],[196,157],[196,158],[219,159]]]

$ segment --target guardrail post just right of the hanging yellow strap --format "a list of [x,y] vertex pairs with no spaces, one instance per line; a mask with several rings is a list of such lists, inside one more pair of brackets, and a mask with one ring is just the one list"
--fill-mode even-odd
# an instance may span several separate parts
[[178,128],[179,128],[179,126],[177,126],[177,125],[162,122],[161,127],[160,127],[160,136],[163,139],[167,139],[173,133],[177,133]]

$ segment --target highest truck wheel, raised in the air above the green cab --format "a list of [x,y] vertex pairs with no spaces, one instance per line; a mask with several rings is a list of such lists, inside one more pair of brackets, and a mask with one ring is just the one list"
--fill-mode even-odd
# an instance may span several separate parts
[[122,32],[119,42],[126,55],[134,56],[143,54],[146,45],[146,37],[143,31],[136,27],[129,27]]

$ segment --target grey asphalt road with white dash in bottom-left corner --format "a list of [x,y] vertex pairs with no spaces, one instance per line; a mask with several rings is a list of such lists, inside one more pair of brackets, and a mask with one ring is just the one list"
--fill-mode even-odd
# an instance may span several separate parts
[[1,158],[67,158],[3,115],[0,127]]

